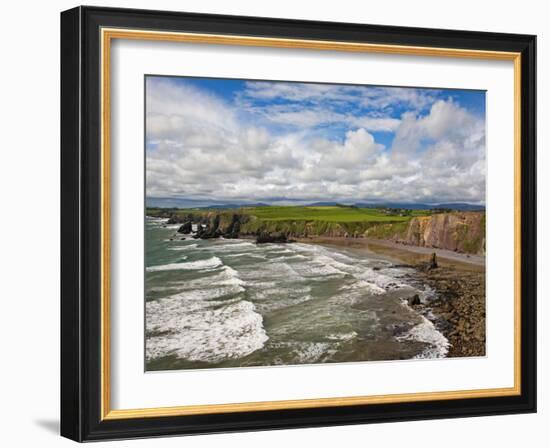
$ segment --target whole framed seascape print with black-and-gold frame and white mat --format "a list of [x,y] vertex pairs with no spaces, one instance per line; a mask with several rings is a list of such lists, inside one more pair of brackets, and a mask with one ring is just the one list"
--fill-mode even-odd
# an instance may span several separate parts
[[535,412],[535,36],[61,14],[61,433]]

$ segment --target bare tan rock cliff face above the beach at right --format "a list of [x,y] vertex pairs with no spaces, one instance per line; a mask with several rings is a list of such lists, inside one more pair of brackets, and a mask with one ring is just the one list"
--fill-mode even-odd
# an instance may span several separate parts
[[412,218],[406,228],[382,225],[366,232],[373,238],[470,254],[485,254],[485,213],[455,212]]

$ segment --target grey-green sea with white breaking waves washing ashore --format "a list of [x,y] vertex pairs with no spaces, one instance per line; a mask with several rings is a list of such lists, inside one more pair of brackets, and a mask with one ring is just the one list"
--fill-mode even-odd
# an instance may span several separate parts
[[178,227],[146,219],[146,370],[448,352],[447,339],[407,304],[415,294],[428,303],[435,294],[412,268],[336,246],[195,240]]

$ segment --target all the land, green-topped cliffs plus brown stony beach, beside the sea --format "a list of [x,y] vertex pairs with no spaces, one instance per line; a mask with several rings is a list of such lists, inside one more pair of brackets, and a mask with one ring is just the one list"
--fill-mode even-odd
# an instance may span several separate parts
[[299,241],[383,255],[414,268],[410,280],[435,291],[429,302],[403,299],[448,339],[448,357],[486,353],[484,211],[261,206],[146,213],[180,225],[179,234],[193,238]]

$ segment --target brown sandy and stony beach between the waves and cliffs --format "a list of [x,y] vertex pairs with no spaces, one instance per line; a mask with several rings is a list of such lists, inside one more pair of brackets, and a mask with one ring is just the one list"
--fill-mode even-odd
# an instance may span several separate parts
[[[411,281],[428,285],[436,294],[426,302],[409,300],[408,305],[449,341],[446,357],[485,356],[485,257],[366,238],[310,237],[297,241],[370,252],[410,266],[414,269]],[[438,267],[427,270],[432,253]]]

